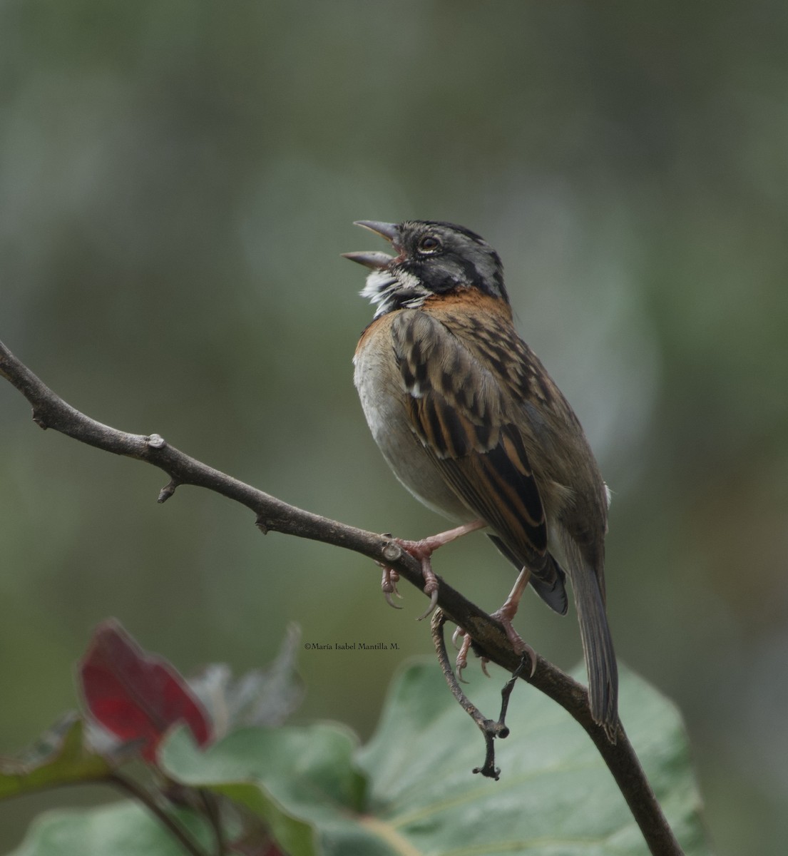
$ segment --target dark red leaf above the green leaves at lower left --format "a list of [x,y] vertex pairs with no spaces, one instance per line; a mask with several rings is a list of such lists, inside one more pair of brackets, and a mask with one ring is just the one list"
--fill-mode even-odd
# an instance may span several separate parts
[[82,694],[92,715],[124,742],[141,740],[140,754],[153,761],[164,734],[185,722],[199,746],[211,739],[202,705],[174,666],[147,654],[110,618],[98,625],[80,662]]

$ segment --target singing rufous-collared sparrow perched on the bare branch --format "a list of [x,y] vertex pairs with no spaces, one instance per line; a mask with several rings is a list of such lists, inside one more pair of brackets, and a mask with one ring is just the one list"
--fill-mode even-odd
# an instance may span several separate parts
[[[430,552],[486,526],[520,571],[494,615],[523,651],[512,629],[522,592],[530,583],[563,615],[568,575],[591,714],[614,740],[618,673],[604,580],[609,493],[572,407],[514,329],[501,259],[452,223],[357,225],[396,253],[346,254],[371,268],[361,294],[377,307],[353,360],[364,415],[402,484],[462,524],[446,537],[405,543],[423,560],[425,591],[435,597]],[[395,581],[384,572],[387,597]]]

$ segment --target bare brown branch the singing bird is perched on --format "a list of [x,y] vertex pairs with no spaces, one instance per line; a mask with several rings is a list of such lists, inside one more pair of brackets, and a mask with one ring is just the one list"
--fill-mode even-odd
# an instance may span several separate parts
[[[33,419],[42,428],[60,431],[80,443],[88,443],[116,455],[145,461],[167,473],[169,484],[159,493],[159,502],[169,499],[181,484],[213,490],[250,508],[261,532],[282,532],[344,547],[393,567],[400,577],[419,590],[424,586],[419,562],[401,550],[391,538],[288,505],[276,496],[185,455],[157,434],[128,434],[102,425],[52,392],[2,342],[0,376],[27,398],[33,406]],[[510,673],[518,669],[521,658],[512,650],[503,627],[443,580],[438,591],[438,606],[449,621],[471,634],[477,651],[483,651],[485,657]],[[651,853],[655,856],[681,856],[678,841],[662,814],[624,728],[619,724],[617,740],[610,743],[604,729],[591,719],[585,688],[542,657],[537,657],[533,675],[520,676],[554,699],[588,732],[624,794]]]

